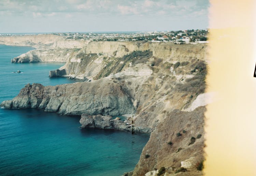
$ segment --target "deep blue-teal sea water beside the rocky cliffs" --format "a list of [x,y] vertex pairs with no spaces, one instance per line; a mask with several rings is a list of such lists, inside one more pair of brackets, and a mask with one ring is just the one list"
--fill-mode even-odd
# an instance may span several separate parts
[[[0,45],[0,102],[27,83],[72,83],[48,78],[64,63],[11,63],[32,48]],[[20,70],[23,73],[12,73]],[[115,176],[133,170],[148,135],[80,129],[80,117],[38,109],[0,109],[0,175]]]

